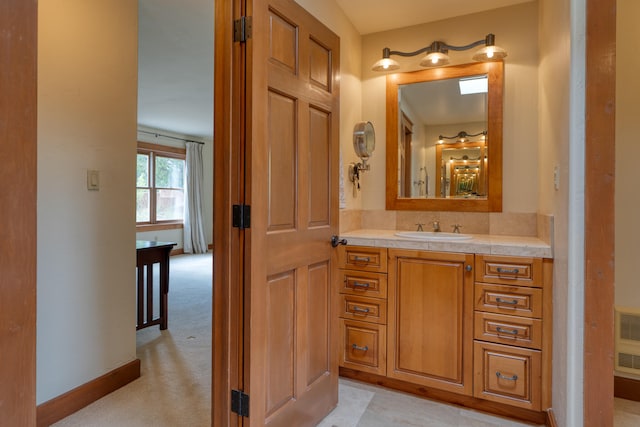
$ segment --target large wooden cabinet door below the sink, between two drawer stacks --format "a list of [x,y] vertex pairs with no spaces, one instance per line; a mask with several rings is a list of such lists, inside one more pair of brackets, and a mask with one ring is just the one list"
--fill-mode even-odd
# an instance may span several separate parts
[[387,376],[471,395],[473,255],[389,254]]

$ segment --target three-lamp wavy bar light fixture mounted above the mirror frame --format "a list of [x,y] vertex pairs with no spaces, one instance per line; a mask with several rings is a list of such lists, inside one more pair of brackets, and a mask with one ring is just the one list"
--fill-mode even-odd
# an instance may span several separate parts
[[447,53],[450,50],[469,50],[481,45],[484,45],[484,47],[479,49],[473,55],[473,60],[497,61],[507,56],[507,52],[501,47],[496,46],[495,42],[496,36],[494,36],[493,34],[487,34],[484,39],[477,40],[464,46],[454,46],[441,41],[434,41],[429,46],[423,47],[422,49],[418,49],[414,52],[401,52],[399,50],[391,50],[388,47],[385,47],[384,49],[382,49],[382,59],[373,64],[373,67],[371,67],[371,69],[373,71],[397,70],[398,68],[400,68],[400,64],[398,63],[398,61],[391,59],[391,55],[410,57],[420,55],[421,53],[426,53],[426,56],[420,61],[420,66],[440,67],[449,63],[450,59]]

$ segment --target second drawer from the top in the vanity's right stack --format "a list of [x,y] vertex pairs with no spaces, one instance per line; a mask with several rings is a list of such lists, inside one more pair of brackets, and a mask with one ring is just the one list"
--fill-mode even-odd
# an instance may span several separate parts
[[475,309],[491,313],[542,317],[542,289],[475,284]]

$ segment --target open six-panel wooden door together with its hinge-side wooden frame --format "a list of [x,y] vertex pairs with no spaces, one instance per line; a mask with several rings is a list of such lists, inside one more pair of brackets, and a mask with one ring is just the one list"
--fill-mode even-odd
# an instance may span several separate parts
[[[292,0],[216,6],[216,22],[239,14],[246,42],[216,30],[213,422],[313,426],[338,399],[339,38]],[[234,203],[249,228],[229,231]],[[223,383],[249,396],[248,417],[228,412]]]

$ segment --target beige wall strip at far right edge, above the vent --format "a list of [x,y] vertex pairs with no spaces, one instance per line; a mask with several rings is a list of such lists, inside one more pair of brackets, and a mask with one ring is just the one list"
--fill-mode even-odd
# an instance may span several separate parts
[[640,94],[640,16],[638,0],[618,0],[616,41],[616,305],[640,308],[640,191],[638,94]]

